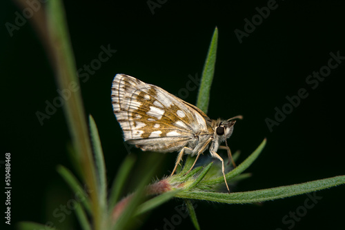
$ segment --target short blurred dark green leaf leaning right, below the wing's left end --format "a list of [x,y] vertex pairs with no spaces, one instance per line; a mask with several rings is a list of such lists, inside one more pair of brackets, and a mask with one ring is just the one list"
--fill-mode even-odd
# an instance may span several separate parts
[[117,176],[112,182],[112,188],[110,189],[110,196],[109,196],[109,210],[112,210],[119,200],[119,196],[121,195],[121,190],[124,187],[126,179],[132,170],[132,167],[135,163],[135,157],[133,155],[128,155],[124,162],[121,164],[119,171],[117,171]]

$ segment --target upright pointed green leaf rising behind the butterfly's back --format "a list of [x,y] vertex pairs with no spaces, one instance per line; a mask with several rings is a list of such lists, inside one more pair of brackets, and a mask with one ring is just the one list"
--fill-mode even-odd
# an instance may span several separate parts
[[215,28],[213,32],[210,47],[208,48],[208,54],[204,64],[204,70],[201,76],[201,84],[199,87],[199,94],[197,96],[197,107],[201,109],[205,114],[208,110],[208,101],[210,101],[210,89],[213,81],[213,75],[215,73],[215,61],[217,54],[217,41],[218,41],[218,29]]

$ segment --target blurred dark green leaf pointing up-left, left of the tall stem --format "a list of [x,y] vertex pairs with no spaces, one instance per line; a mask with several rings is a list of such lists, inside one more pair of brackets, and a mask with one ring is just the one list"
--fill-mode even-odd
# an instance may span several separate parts
[[86,211],[88,211],[88,213],[90,214],[91,205],[90,205],[89,195],[86,194],[83,187],[78,182],[77,178],[75,178],[75,176],[72,174],[72,172],[70,172],[70,170],[66,169],[66,167],[63,167],[62,165],[57,166],[57,171],[62,176],[62,178],[67,182],[67,184],[70,186],[72,191],[75,194],[78,194],[78,197],[83,198],[81,199],[81,202],[83,203],[83,206],[85,207]]

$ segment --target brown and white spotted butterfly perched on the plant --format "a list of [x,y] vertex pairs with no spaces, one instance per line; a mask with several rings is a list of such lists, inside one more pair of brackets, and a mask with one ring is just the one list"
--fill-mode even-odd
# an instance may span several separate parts
[[[181,100],[156,85],[144,83],[126,74],[117,74],[112,81],[112,109],[124,132],[124,140],[142,151],[168,153],[179,151],[175,173],[184,154],[197,156],[209,149],[210,155],[221,161],[221,170],[229,190],[224,172],[224,160],[218,149],[228,152],[235,167],[226,139],[233,134],[235,116],[228,120],[212,120],[195,105]],[[225,142],[225,145],[220,145]],[[188,172],[189,172],[188,171]]]

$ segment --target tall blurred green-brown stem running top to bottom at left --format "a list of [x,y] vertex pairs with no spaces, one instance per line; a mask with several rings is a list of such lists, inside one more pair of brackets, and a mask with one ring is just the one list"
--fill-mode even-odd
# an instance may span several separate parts
[[50,44],[55,56],[57,84],[60,90],[70,93],[70,98],[64,101],[65,112],[73,147],[75,147],[79,162],[82,165],[83,180],[88,185],[92,200],[94,229],[101,229],[101,211],[98,202],[97,179],[93,165],[92,149],[88,136],[88,125],[81,101],[79,80],[75,67],[74,55],[70,44],[66,18],[61,0],[47,3],[48,28]]

